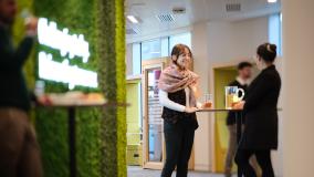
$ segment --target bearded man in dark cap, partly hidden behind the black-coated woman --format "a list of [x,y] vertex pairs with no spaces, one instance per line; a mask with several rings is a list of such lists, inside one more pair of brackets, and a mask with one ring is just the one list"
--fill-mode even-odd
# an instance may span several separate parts
[[[232,81],[229,86],[238,86],[244,91],[245,94],[248,94],[248,86],[250,79],[252,76],[252,64],[249,62],[240,62],[238,64],[238,76],[234,81]],[[240,95],[239,95],[240,96]],[[229,112],[228,116],[226,118],[227,126],[229,131],[229,144],[228,144],[228,152],[226,156],[224,162],[224,176],[231,177],[232,176],[232,164],[234,159],[234,155],[237,152],[237,125],[236,125],[236,113]],[[242,121],[244,124],[244,121]],[[243,126],[244,127],[244,126]],[[257,174],[260,176],[260,168],[257,162],[255,156],[252,156],[250,159],[251,165],[253,166]]]

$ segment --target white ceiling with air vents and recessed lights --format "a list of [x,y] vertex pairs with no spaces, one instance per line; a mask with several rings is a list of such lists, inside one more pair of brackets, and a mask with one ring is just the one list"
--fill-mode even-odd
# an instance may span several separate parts
[[[227,12],[227,3],[241,3],[241,11]],[[172,8],[186,8],[186,13],[174,14]],[[166,31],[190,27],[207,21],[234,21],[262,17],[279,12],[280,0],[268,3],[268,0],[126,0],[126,14],[138,17],[142,22],[133,24],[127,20],[127,29],[137,34],[127,34],[127,40]],[[172,14],[174,22],[159,22],[156,15]]]

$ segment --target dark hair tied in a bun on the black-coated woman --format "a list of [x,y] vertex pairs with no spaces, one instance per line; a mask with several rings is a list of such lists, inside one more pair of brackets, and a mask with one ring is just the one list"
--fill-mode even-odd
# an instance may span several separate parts
[[257,53],[265,62],[272,63],[276,58],[276,45],[272,43],[263,43],[258,48]]

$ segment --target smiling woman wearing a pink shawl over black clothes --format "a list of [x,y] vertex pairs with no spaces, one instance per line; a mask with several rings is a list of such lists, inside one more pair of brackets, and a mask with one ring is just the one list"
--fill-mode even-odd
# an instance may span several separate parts
[[166,163],[161,177],[171,177],[177,167],[177,177],[187,177],[188,162],[198,127],[196,111],[199,76],[188,70],[191,51],[187,45],[177,44],[171,52],[172,63],[159,79],[159,101],[164,106],[164,134]]

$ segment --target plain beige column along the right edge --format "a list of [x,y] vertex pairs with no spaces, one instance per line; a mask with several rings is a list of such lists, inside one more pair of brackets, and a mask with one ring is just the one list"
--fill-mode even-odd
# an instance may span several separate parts
[[314,1],[282,0],[283,176],[314,176]]

